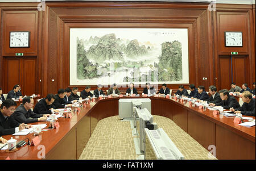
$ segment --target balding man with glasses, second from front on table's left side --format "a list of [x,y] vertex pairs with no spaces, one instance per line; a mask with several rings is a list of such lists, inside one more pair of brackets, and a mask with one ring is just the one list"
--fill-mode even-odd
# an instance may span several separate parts
[[23,98],[20,104],[13,113],[14,119],[19,123],[32,123],[46,121],[49,114],[35,114],[31,109],[34,105],[34,99],[30,96]]

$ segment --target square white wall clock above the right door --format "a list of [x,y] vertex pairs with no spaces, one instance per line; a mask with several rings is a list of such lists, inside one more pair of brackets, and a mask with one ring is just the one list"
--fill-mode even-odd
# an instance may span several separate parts
[[242,32],[225,32],[225,47],[242,47]]

